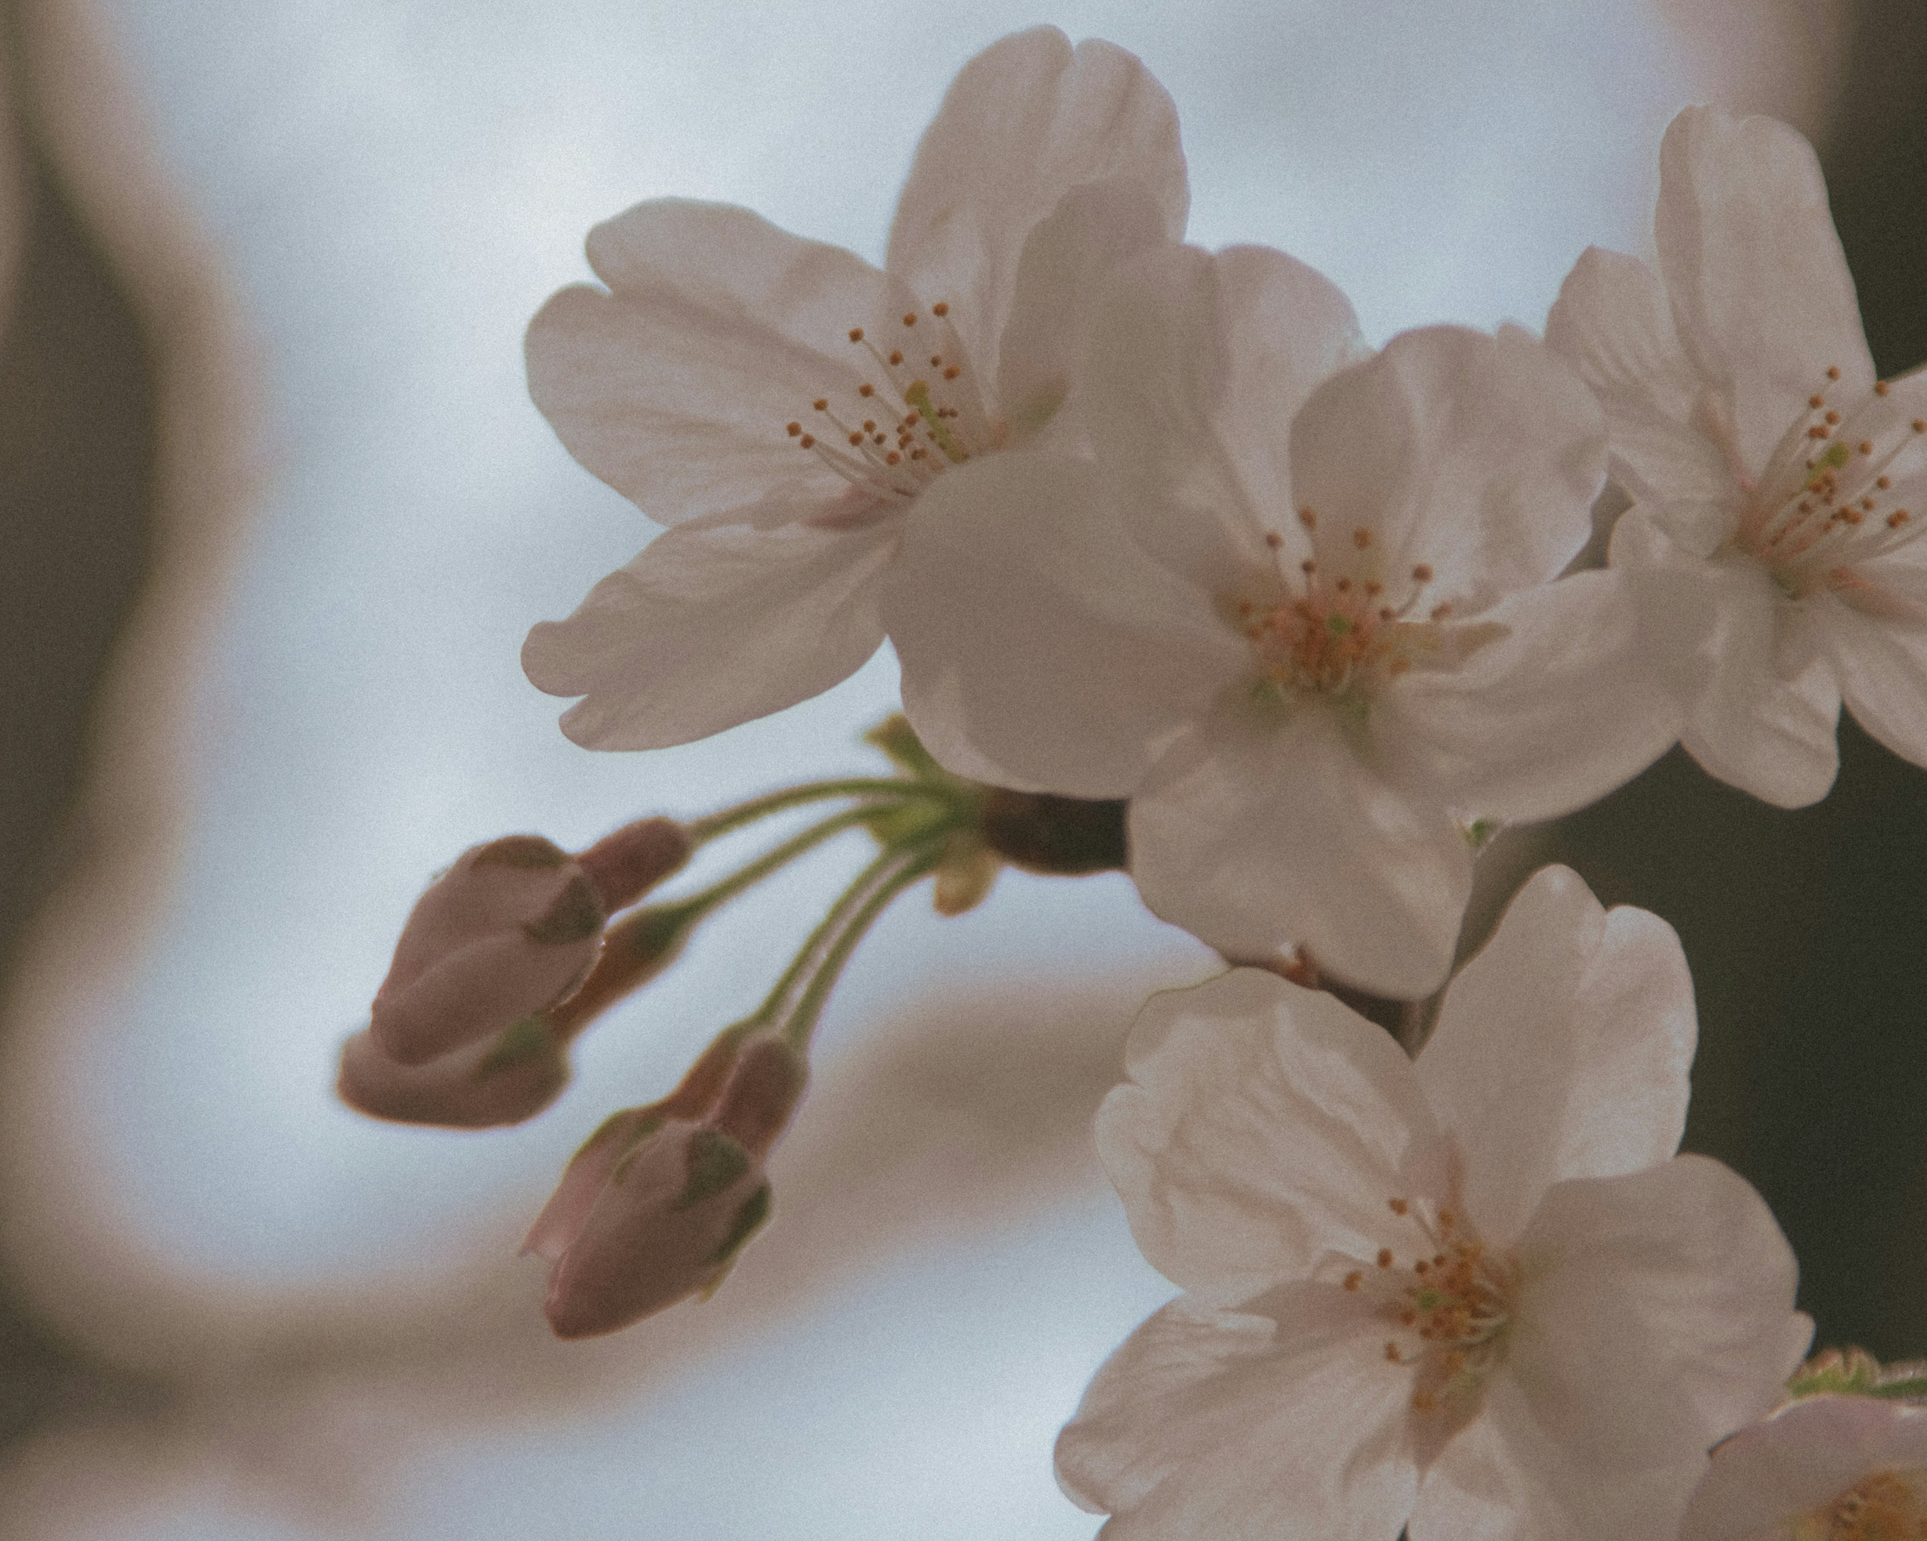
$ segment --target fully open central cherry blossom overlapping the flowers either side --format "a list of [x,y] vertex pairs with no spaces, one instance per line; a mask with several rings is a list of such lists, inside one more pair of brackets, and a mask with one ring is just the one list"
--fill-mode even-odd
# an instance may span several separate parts
[[884,618],[952,770],[1129,797],[1145,901],[1231,957],[1424,996],[1472,819],[1547,819],[1673,742],[1590,537],[1605,430],[1534,337],[1370,356],[1324,277],[1147,252],[1091,333],[1095,455],[925,495]]

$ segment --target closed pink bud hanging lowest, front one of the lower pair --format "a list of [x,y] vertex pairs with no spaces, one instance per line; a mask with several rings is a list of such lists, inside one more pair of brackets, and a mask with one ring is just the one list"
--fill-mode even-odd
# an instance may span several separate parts
[[613,1333],[715,1287],[769,1217],[757,1156],[709,1125],[657,1117],[603,1125],[530,1233],[555,1264],[557,1337]]

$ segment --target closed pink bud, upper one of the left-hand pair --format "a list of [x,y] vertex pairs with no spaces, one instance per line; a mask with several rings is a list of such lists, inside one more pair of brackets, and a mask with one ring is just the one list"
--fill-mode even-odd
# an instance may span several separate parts
[[534,834],[474,846],[416,900],[370,1032],[401,1065],[493,1038],[574,988],[601,927],[595,884],[559,846]]

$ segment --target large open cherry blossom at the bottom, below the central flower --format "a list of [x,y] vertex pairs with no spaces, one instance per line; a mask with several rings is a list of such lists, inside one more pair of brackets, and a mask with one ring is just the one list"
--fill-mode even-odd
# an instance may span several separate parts
[[1112,1541],[1673,1535],[1811,1323],[1732,1171],[1675,1156],[1671,927],[1542,871],[1416,1061],[1237,969],[1158,996],[1098,1150],[1187,1293],[1098,1370],[1058,1477]]

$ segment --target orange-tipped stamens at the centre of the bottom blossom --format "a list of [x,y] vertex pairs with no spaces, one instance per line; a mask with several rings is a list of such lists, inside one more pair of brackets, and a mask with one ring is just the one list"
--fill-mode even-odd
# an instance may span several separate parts
[[1386,1339],[1386,1358],[1418,1368],[1412,1410],[1432,1412],[1441,1398],[1474,1389],[1497,1358],[1518,1264],[1490,1254],[1447,1208],[1426,1219],[1422,1206],[1407,1198],[1389,1206],[1420,1233],[1416,1256],[1401,1264],[1384,1246],[1372,1267],[1345,1275],[1345,1289],[1370,1294],[1397,1323],[1399,1335]]

